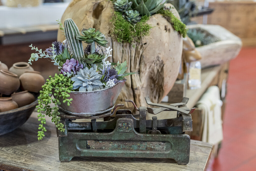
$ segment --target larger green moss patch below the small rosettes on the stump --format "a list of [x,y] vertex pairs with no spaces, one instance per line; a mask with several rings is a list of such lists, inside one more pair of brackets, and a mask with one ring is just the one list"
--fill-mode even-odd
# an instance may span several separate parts
[[149,35],[149,30],[152,28],[146,21],[148,16],[142,16],[140,22],[135,25],[126,21],[122,13],[114,12],[110,22],[112,23],[111,35],[118,42],[140,42],[141,38]]

